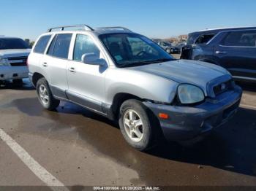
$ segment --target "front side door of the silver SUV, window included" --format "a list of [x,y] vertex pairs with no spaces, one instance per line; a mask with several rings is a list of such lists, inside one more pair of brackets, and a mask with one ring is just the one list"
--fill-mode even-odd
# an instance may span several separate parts
[[71,101],[102,112],[105,102],[105,74],[108,64],[97,66],[83,63],[83,54],[94,53],[105,58],[92,36],[77,34],[73,37],[72,61],[67,66],[69,89],[67,95]]

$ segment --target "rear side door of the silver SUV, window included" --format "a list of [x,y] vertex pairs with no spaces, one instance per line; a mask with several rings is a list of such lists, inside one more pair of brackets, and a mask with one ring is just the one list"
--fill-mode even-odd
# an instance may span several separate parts
[[56,34],[50,43],[47,55],[42,59],[42,67],[48,73],[48,83],[53,95],[66,98],[67,63],[72,34]]

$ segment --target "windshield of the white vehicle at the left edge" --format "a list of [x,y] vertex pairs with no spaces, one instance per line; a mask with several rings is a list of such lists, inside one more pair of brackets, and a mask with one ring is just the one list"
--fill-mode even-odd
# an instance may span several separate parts
[[27,49],[29,45],[23,39],[0,38],[0,50],[5,49]]

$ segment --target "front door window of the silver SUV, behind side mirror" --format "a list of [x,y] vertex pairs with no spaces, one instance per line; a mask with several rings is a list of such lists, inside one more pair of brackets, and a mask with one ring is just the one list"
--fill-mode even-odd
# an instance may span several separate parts
[[82,55],[87,53],[94,53],[100,57],[100,52],[94,41],[90,36],[78,34],[75,39],[75,47],[73,53],[74,61],[81,61]]

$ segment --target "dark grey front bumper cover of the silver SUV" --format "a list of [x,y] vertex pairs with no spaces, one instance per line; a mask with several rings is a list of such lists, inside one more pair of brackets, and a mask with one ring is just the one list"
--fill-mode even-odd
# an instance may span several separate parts
[[[236,113],[241,101],[241,87],[206,99],[198,106],[171,106],[143,102],[159,119],[165,139],[169,141],[186,141],[208,133],[230,120]],[[169,115],[169,119],[158,117],[159,113]]]

